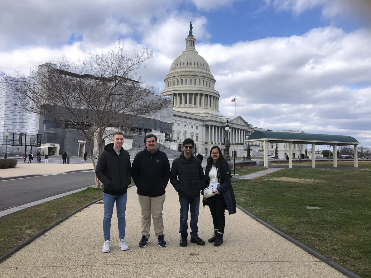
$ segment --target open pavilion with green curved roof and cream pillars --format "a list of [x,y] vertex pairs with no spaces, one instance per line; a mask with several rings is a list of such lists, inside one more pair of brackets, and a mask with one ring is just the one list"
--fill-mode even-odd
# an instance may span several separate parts
[[[246,143],[264,142],[264,166],[268,167],[267,149],[270,143],[289,143],[289,168],[292,168],[292,144],[312,144],[312,150],[315,145],[332,145],[334,153],[337,146],[354,146],[354,153],[358,152],[357,139],[347,135],[328,135],[298,132],[278,132],[278,131],[254,131],[246,140]],[[334,159],[334,167],[337,167],[337,160]],[[354,167],[358,167],[357,155],[354,156]],[[315,168],[315,155],[312,155],[312,168]]]

